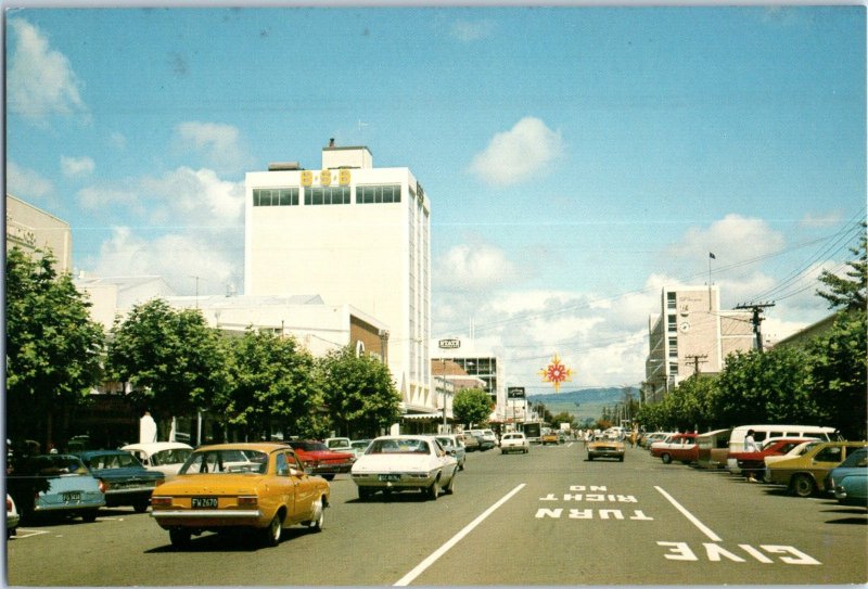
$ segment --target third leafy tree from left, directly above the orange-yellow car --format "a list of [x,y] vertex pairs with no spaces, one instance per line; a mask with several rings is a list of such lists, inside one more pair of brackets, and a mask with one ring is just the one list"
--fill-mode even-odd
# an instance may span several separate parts
[[225,345],[228,382],[215,404],[226,423],[245,439],[269,439],[272,425],[302,437],[326,433],[314,357],[294,337],[248,329]]

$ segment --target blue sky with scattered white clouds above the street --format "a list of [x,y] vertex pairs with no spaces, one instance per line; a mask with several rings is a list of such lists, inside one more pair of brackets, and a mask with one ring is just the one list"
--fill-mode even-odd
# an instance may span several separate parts
[[[21,9],[7,190],[89,274],[243,292],[244,172],[329,138],[432,205],[433,331],[642,379],[663,285],[827,315],[866,209],[861,7]],[[200,277],[196,280],[193,277]]]

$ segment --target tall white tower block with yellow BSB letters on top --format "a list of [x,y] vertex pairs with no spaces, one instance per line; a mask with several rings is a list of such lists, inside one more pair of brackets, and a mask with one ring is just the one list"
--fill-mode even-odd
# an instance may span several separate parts
[[244,292],[317,293],[387,325],[387,364],[406,413],[431,389],[430,205],[408,168],[374,168],[368,148],[322,150],[322,167],[246,175]]

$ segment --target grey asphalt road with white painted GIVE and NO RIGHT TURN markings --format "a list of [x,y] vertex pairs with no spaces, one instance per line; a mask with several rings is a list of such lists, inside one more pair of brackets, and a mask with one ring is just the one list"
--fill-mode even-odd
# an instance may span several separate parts
[[321,534],[276,548],[206,534],[184,552],[149,514],[103,510],[25,525],[7,542],[15,586],[832,585],[868,581],[868,512],[722,471],[580,443],[469,454],[452,495],[357,500],[332,482]]

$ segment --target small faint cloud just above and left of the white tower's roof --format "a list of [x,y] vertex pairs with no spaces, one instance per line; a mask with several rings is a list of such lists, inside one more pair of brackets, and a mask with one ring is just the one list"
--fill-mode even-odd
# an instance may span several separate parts
[[221,172],[243,170],[252,165],[241,145],[241,133],[231,125],[188,121],[175,127],[179,150],[193,150],[209,167]]

